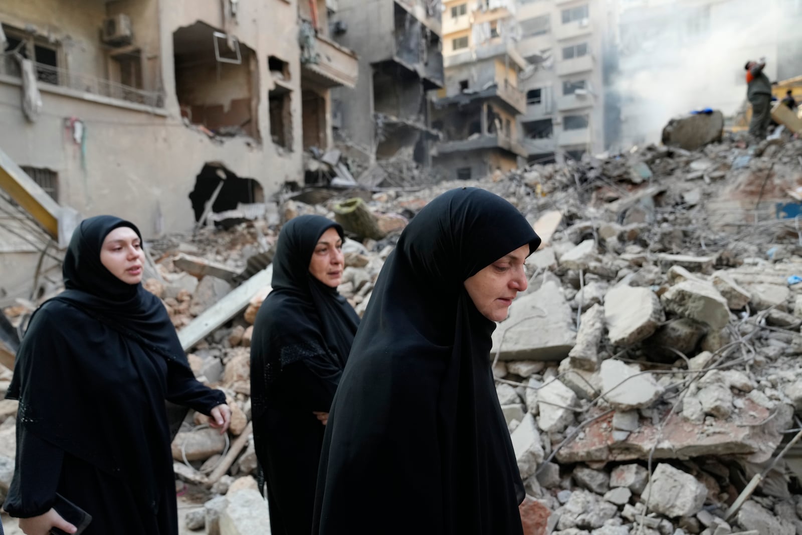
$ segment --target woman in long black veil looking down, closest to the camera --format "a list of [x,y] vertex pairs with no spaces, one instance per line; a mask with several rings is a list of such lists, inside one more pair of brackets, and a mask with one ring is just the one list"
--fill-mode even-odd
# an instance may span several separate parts
[[444,193],[407,225],[331,406],[314,535],[523,533],[488,355],[540,242],[478,188]]

